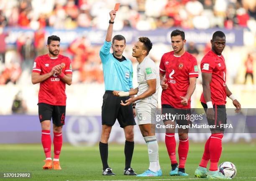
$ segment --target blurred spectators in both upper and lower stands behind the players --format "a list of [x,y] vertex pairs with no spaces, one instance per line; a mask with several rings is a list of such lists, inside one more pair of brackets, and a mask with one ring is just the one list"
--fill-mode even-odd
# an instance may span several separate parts
[[[255,24],[256,19],[256,0],[0,0],[0,84],[16,84],[23,72],[31,72],[35,57],[47,53],[45,27],[106,30],[102,22],[108,24],[108,12],[115,2],[121,3],[115,20],[116,30],[124,27],[137,30],[170,27],[250,29],[251,22]],[[4,27],[29,28],[35,32],[19,36],[15,48],[8,49],[5,43],[8,32],[3,31]],[[170,45],[161,46],[171,50]],[[192,42],[186,47],[196,57],[202,57],[210,48],[210,45],[198,48]],[[131,49],[131,45],[127,49]],[[99,50],[100,46],[91,46],[86,36],[77,37],[68,47],[62,47],[60,53],[72,60],[75,83],[104,82]],[[130,52],[126,55],[136,62]],[[152,59],[159,62],[159,58]],[[254,60],[251,54],[243,60],[246,78],[253,79]]]

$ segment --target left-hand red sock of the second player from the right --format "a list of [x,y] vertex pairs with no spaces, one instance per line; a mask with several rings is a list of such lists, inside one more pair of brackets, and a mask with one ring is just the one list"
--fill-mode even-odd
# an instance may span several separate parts
[[174,133],[166,133],[165,134],[165,145],[171,160],[172,164],[177,164],[176,159],[176,141],[174,137]]

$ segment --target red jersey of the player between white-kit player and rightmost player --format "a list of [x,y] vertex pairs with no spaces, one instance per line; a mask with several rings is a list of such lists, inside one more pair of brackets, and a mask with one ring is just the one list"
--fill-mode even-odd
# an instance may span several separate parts
[[162,91],[161,104],[169,104],[174,108],[190,108],[191,100],[187,106],[181,104],[180,96],[187,94],[189,87],[189,77],[198,77],[198,67],[196,58],[188,52],[177,57],[174,51],[165,53],[160,62],[160,72],[165,73],[168,89]]

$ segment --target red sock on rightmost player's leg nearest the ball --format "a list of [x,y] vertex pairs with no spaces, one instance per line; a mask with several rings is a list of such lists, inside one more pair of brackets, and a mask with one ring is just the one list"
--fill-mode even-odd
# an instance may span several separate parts
[[210,171],[218,170],[218,161],[222,151],[222,138],[223,134],[217,133],[211,135],[209,144],[210,150]]

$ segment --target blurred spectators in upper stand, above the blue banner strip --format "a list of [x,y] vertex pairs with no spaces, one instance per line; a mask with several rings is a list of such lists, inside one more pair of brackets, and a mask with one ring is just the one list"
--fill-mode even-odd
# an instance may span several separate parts
[[121,3],[120,29],[247,27],[256,18],[255,0],[0,0],[0,22],[33,29],[105,28],[115,2]]

